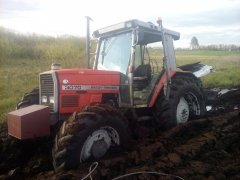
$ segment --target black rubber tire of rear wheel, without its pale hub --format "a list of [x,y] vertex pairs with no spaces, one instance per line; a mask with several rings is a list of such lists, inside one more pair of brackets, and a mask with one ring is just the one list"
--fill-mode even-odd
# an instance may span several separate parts
[[190,111],[189,118],[194,119],[205,114],[205,99],[202,88],[198,85],[197,80],[188,76],[174,77],[172,79],[169,99],[166,99],[162,90],[155,104],[153,113],[160,130],[167,130],[178,124],[177,106],[180,99],[188,93],[196,96],[200,108],[200,115],[195,115]]

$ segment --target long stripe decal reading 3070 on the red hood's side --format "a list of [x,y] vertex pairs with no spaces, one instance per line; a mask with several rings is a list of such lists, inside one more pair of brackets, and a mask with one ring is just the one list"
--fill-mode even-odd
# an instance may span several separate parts
[[62,85],[62,90],[63,91],[119,90],[119,86]]

